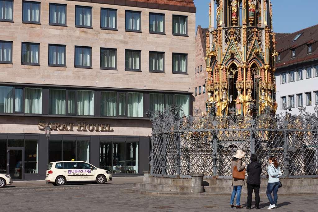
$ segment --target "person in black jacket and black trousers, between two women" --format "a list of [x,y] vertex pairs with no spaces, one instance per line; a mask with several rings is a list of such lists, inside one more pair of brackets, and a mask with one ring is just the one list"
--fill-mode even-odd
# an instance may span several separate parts
[[259,209],[259,188],[260,174],[262,173],[262,165],[258,162],[255,154],[251,155],[251,163],[247,165],[247,208],[252,207],[252,193],[255,193],[255,209]]

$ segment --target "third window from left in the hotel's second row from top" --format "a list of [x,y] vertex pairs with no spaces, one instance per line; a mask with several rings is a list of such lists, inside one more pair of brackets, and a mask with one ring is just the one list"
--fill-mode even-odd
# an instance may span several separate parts
[[49,44],[49,66],[66,66],[66,45]]

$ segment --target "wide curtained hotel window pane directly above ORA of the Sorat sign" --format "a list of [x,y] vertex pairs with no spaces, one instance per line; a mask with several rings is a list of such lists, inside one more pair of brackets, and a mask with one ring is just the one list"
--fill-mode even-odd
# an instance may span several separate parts
[[66,90],[49,90],[49,114],[65,115],[66,110]]

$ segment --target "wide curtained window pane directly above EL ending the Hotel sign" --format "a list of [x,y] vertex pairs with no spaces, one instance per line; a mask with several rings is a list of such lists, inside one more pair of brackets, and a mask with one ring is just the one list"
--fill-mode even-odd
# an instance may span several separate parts
[[116,116],[117,92],[100,92],[100,115]]

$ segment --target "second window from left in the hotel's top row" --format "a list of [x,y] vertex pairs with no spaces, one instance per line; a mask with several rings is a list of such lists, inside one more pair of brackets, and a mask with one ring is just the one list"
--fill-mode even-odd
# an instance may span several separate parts
[[22,22],[23,23],[40,23],[40,2],[28,2],[22,3]]

